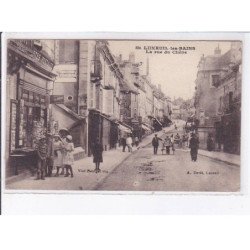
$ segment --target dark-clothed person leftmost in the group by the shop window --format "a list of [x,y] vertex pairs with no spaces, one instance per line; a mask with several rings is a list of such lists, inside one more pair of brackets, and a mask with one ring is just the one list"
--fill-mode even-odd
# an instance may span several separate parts
[[37,177],[36,180],[45,180],[45,171],[46,171],[46,159],[47,159],[47,143],[46,137],[42,137],[38,141],[37,145]]

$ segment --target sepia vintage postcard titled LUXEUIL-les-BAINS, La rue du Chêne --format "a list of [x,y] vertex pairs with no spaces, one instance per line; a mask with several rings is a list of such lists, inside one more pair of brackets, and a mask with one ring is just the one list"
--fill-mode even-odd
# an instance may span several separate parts
[[241,40],[4,41],[16,191],[241,191]]

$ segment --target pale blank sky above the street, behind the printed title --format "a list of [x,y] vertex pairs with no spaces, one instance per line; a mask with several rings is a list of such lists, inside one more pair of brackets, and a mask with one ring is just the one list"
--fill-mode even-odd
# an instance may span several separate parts
[[[113,55],[122,54],[124,60],[134,52],[135,61],[142,62],[141,71],[146,74],[146,61],[149,60],[149,75],[153,84],[161,85],[162,91],[172,99],[182,97],[192,98],[195,90],[197,66],[201,56],[213,55],[214,49],[219,45],[221,53],[227,52],[230,41],[135,41],[135,40],[112,40],[109,41]],[[136,49],[139,46],[141,49]],[[158,50],[162,54],[146,53],[148,46],[167,47]],[[187,54],[173,54],[172,48],[192,47],[194,50],[185,50]],[[148,50],[149,51],[149,50]],[[165,54],[165,51],[170,54]],[[181,50],[184,51],[184,50]]]

